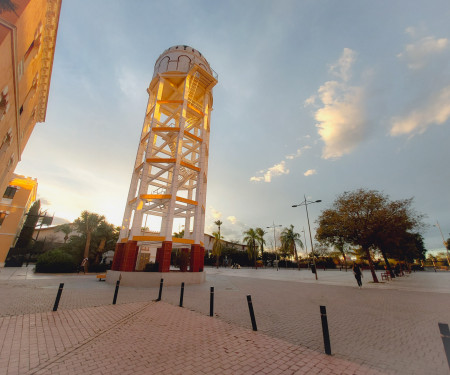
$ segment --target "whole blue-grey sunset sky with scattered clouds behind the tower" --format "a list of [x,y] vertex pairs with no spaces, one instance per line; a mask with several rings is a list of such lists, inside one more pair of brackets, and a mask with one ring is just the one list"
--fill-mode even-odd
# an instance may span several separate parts
[[[199,50],[214,88],[205,232],[305,230],[358,188],[414,197],[429,250],[450,236],[447,0],[64,0],[45,123],[16,173],[56,222],[120,225],[154,63]],[[271,247],[273,230],[267,229]],[[303,235],[303,233],[302,233]]]

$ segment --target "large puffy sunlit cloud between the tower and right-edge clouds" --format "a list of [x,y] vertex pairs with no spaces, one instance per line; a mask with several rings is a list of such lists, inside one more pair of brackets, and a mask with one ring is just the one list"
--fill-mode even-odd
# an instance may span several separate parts
[[341,81],[327,81],[308,98],[305,105],[317,100],[322,107],[314,113],[318,133],[325,143],[322,158],[338,158],[349,154],[363,140],[365,135],[365,90],[351,86],[351,67],[356,53],[345,48],[339,60],[331,65],[330,72]]

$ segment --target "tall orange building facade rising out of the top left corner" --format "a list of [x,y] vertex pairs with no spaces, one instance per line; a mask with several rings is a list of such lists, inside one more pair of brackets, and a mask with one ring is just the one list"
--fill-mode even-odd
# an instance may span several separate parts
[[0,191],[47,111],[61,0],[12,0],[0,8]]

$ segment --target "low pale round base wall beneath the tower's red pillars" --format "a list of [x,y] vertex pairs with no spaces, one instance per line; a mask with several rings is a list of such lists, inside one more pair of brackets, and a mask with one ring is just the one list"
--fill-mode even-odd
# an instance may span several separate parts
[[159,286],[161,279],[164,279],[165,286],[187,284],[201,284],[206,280],[206,272],[124,272],[108,271],[106,282],[116,284],[119,276],[121,286],[133,287],[155,287]]

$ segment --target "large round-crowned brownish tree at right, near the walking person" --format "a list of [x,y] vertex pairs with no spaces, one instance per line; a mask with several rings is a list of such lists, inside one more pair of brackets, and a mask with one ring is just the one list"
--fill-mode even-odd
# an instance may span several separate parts
[[378,248],[387,260],[389,241],[396,241],[401,237],[399,233],[422,225],[423,216],[411,209],[411,203],[412,199],[391,202],[376,190],[344,192],[317,220],[316,238],[333,244],[339,240],[360,246],[369,262],[373,281],[378,282],[370,252]]

